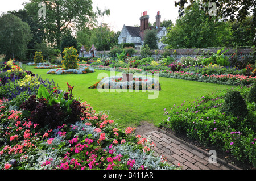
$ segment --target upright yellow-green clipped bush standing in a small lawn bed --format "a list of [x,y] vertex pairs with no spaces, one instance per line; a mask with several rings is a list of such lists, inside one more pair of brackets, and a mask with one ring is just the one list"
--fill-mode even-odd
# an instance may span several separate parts
[[78,69],[79,68],[79,64],[78,64],[78,54],[77,54],[77,50],[74,47],[70,47],[70,48],[64,48],[63,51],[63,68],[64,70],[68,70],[68,69]]

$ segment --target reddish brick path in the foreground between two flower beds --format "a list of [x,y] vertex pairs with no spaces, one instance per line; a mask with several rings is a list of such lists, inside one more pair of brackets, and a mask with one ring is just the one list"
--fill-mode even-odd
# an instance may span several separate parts
[[141,135],[150,137],[150,142],[156,146],[152,148],[155,155],[164,155],[170,165],[180,165],[184,170],[241,170],[240,168],[217,158],[217,163],[209,163],[210,154],[189,144],[174,135],[157,129]]

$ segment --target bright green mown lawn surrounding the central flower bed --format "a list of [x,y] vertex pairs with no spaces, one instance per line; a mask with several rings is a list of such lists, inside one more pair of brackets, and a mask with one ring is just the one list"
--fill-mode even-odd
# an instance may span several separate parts
[[[79,75],[51,75],[46,74],[46,69],[34,69],[34,66],[26,66],[26,70],[40,75],[43,79],[52,79],[60,89],[67,90],[67,82],[73,89],[73,95],[82,101],[88,102],[96,111],[104,111],[121,127],[137,127],[141,121],[148,121],[158,125],[164,118],[164,108],[182,103],[191,102],[205,94],[211,94],[218,90],[228,89],[232,86],[217,85],[195,81],[185,81],[159,77],[162,90],[158,98],[148,99],[154,92],[99,92],[97,89],[88,89],[98,82],[99,73],[106,73],[110,77],[110,71],[95,70],[95,73]],[[117,74],[118,72],[115,72]],[[101,78],[101,77],[99,77]]]

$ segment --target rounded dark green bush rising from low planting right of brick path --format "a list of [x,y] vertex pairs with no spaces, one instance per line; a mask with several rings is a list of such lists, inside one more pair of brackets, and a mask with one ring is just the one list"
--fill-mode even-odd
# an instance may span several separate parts
[[248,113],[245,99],[238,91],[229,91],[224,98],[222,112],[234,116],[245,117]]

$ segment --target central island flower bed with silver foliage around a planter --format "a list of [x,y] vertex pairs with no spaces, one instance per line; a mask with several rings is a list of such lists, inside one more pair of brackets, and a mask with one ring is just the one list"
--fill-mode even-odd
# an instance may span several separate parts
[[122,76],[102,78],[91,89],[134,89],[134,90],[161,90],[158,79],[151,77],[133,76],[133,81],[123,81]]

